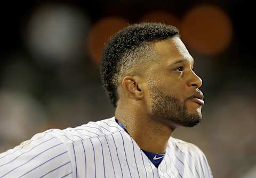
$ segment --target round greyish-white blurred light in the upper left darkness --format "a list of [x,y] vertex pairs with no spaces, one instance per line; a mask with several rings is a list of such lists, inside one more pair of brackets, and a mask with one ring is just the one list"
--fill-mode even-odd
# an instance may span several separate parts
[[66,5],[43,6],[31,15],[26,41],[35,58],[47,63],[74,60],[86,40],[89,18]]

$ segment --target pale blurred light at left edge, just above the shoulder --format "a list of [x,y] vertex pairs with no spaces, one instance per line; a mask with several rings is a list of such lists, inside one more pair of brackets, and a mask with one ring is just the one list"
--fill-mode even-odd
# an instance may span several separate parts
[[47,123],[48,117],[44,107],[33,97],[17,92],[0,91],[2,140],[9,140],[14,144],[27,140]]

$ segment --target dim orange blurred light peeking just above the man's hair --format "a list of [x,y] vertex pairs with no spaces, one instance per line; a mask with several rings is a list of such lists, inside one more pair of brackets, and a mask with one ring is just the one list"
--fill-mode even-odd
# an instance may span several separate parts
[[139,22],[162,22],[179,28],[180,21],[174,15],[166,11],[153,11],[142,16]]

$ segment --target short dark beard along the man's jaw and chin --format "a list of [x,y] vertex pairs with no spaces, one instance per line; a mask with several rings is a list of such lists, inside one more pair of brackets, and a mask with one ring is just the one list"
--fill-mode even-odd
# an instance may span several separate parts
[[189,114],[185,101],[164,94],[158,90],[153,83],[149,83],[149,92],[152,99],[151,114],[153,117],[161,118],[166,123],[175,123],[180,126],[193,127],[200,123],[202,114],[196,112]]

